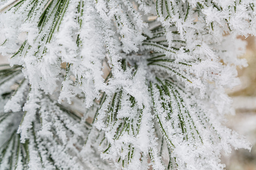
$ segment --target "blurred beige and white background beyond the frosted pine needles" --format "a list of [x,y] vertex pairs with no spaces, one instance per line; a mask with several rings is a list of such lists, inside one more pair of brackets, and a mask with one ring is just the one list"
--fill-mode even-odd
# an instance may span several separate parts
[[[244,39],[241,37],[241,39]],[[226,125],[244,135],[252,144],[249,152],[245,149],[233,150],[228,156],[222,156],[227,170],[256,170],[256,38],[248,37],[246,53],[242,57],[248,67],[237,68],[241,85],[227,93],[234,100],[236,115],[227,116]],[[0,54],[0,64],[8,64],[8,56]]]

